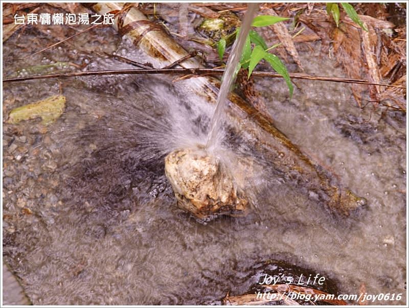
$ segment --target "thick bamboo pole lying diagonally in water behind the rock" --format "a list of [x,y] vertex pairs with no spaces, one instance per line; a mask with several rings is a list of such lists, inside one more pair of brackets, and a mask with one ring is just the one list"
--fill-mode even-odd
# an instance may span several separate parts
[[[89,4],[90,8],[99,14],[115,12],[115,25],[119,33],[129,37],[135,45],[145,52],[149,61],[155,67],[167,66],[178,59],[188,56],[172,38],[158,26],[149,21],[144,14],[133,6],[123,6],[117,3]],[[200,63],[190,58],[179,63],[184,69],[201,67]],[[163,72],[162,72],[163,73]],[[106,73],[107,75],[109,73]],[[216,102],[220,82],[213,77],[197,77],[179,81],[189,88],[196,96],[208,102]],[[246,126],[246,132],[254,137],[252,148],[266,157],[275,170],[291,182],[307,189],[309,196],[322,201],[327,206],[345,215],[349,215],[366,200],[354,195],[337,181],[336,177],[315,164],[310,158],[277,129],[268,119],[241,97],[231,93],[229,100],[245,112],[262,130]],[[232,108],[226,112],[228,123],[240,123],[240,118]],[[267,133],[267,136],[266,136]],[[250,141],[249,141],[250,142]]]

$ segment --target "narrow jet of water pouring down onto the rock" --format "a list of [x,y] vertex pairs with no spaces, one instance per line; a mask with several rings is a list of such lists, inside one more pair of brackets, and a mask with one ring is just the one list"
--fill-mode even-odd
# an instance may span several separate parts
[[243,23],[240,28],[240,34],[238,39],[233,45],[232,52],[229,56],[229,60],[226,64],[226,69],[224,70],[222,83],[220,87],[219,94],[217,96],[216,109],[213,113],[210,122],[210,131],[206,143],[206,148],[208,150],[213,150],[218,141],[218,135],[220,131],[220,126],[223,120],[224,108],[226,106],[226,99],[231,91],[232,85],[236,80],[238,73],[238,64],[246,41],[247,34],[252,25],[254,14],[258,9],[257,3],[247,4],[247,12],[244,16]]

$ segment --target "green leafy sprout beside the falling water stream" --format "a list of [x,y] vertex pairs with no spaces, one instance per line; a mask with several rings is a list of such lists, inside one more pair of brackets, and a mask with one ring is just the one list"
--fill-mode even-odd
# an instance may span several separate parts
[[[260,15],[253,19],[252,27],[265,27],[274,25],[277,22],[288,20],[287,17],[279,17],[279,16],[269,16],[269,15]],[[234,34],[236,34],[236,39],[239,35],[240,28],[237,28]],[[252,43],[254,44],[254,48],[252,49]],[[254,30],[250,30],[249,34],[246,37],[246,41],[244,43],[243,53],[241,55],[240,64],[238,69],[244,68],[248,69],[248,77],[250,78],[254,68],[257,64],[262,60],[266,60],[272,69],[274,69],[278,74],[283,76],[285,82],[287,83],[288,89],[290,91],[290,97],[292,97],[293,86],[291,84],[290,75],[288,74],[288,70],[283,64],[283,62],[274,54],[269,53],[268,51],[276,48],[278,44],[271,46],[270,48],[267,47],[264,39]],[[220,60],[223,60],[223,55],[226,49],[226,40],[220,39],[216,43],[217,52],[219,54]]]

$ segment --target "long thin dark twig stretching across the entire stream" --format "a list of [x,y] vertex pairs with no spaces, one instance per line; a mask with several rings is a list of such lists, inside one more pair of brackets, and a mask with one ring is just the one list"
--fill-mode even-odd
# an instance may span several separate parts
[[[16,77],[16,78],[6,78],[3,82],[15,82],[15,81],[25,81],[25,80],[35,80],[35,79],[46,79],[46,78],[67,78],[67,77],[80,77],[80,76],[96,76],[96,75],[141,75],[141,74],[191,74],[191,75],[222,75],[224,69],[220,68],[148,68],[148,69],[113,69],[113,70],[93,70],[90,72],[69,72],[60,74],[49,74],[49,75],[37,75],[37,76],[27,76],[27,77]],[[245,74],[239,72],[239,74]],[[254,71],[252,73],[254,77],[269,77],[269,78],[282,78],[280,74],[272,72],[260,72]],[[343,82],[343,83],[358,83],[367,85],[380,85],[385,87],[394,87],[405,89],[406,86],[374,83],[362,79],[348,79],[348,78],[337,78],[337,77],[323,77],[323,76],[312,76],[301,73],[289,74],[291,78],[294,79],[307,79],[307,80],[320,80],[320,81],[332,81],[332,82]]]

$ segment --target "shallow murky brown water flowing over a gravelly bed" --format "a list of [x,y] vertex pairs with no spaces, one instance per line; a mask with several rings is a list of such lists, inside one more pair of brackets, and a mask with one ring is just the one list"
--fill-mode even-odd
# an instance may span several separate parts
[[[144,62],[110,29],[13,61],[49,44],[32,31],[4,44],[4,76],[85,57],[88,70],[132,68],[91,50]],[[21,42],[33,37],[28,50]],[[319,43],[314,47],[302,53],[306,73],[342,77]],[[215,303],[227,292],[246,292],[243,277],[266,259],[320,273],[342,294],[359,294],[363,284],[368,294],[403,293],[376,304],[406,301],[405,116],[359,109],[346,84],[296,80],[289,100],[283,81],[257,79],[275,125],[368,205],[335,217],[255,160],[245,184],[251,212],[200,224],[175,207],[163,158],[206,140],[214,106],[161,75],[60,82],[3,89],[4,121],[12,108],[58,94],[60,86],[67,98],[47,129],[40,121],[3,126],[4,260],[34,304]],[[243,118],[247,124],[254,125]]]

